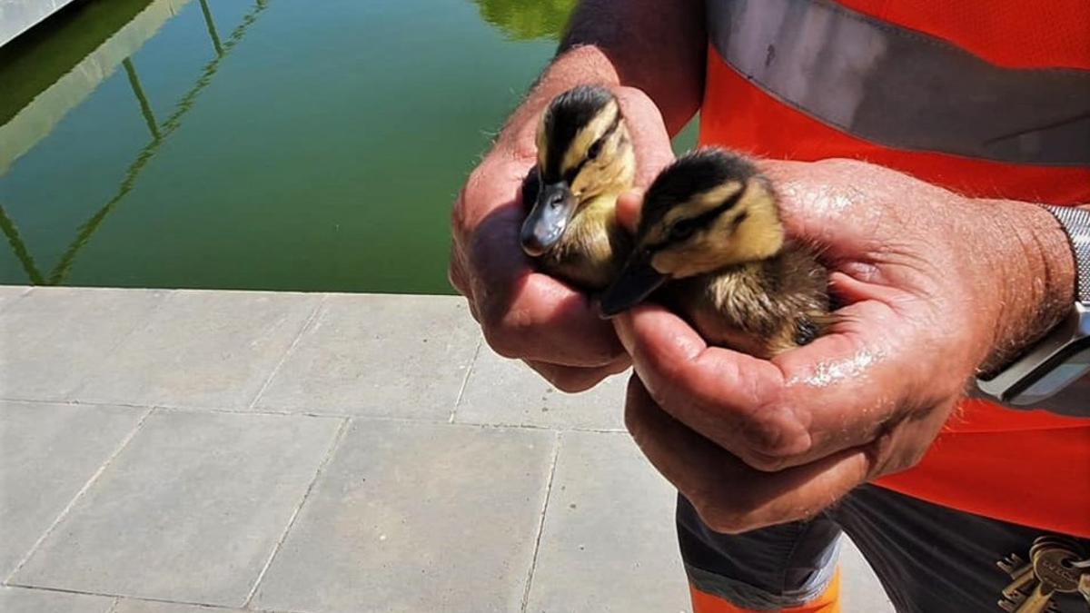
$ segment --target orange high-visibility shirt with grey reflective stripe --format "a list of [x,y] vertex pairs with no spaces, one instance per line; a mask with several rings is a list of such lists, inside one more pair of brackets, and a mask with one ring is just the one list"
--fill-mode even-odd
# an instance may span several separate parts
[[[702,144],[1090,203],[1090,1],[707,4]],[[918,466],[876,483],[1090,538],[1090,419],[965,400]]]

